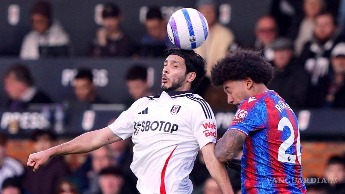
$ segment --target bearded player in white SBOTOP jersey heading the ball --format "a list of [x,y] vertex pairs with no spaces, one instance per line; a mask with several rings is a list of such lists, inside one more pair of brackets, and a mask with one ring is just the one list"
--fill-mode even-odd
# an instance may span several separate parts
[[201,149],[210,175],[223,193],[233,193],[226,168],[214,154],[216,121],[208,103],[191,89],[205,76],[205,60],[193,50],[168,49],[160,95],[140,98],[114,123],[70,142],[30,154],[37,171],[50,157],[91,152],[132,137],[131,169],[141,194],[189,194],[189,173]]

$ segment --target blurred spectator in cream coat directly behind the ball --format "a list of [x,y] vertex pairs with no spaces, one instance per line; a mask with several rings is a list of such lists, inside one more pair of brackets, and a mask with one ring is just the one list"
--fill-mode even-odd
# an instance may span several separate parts
[[198,0],[196,7],[207,20],[208,36],[203,45],[196,48],[195,51],[206,60],[206,76],[210,78],[212,67],[218,59],[227,54],[235,37],[233,32],[218,22],[218,4],[215,0]]

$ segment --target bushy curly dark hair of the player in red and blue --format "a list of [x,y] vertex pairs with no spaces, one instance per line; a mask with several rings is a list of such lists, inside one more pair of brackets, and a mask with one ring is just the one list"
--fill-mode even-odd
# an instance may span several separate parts
[[238,50],[221,58],[212,68],[211,81],[214,86],[223,85],[225,81],[252,78],[256,83],[267,85],[274,76],[274,67],[253,50]]

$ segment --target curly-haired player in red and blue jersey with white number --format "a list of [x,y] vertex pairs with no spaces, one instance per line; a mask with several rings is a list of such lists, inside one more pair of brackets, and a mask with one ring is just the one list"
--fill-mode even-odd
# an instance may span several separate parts
[[[288,102],[266,87],[273,76],[272,65],[248,50],[220,59],[212,69],[212,83],[222,85],[228,103],[238,107],[215,154],[240,169],[242,194],[306,193],[297,118]],[[242,158],[234,158],[242,146]]]

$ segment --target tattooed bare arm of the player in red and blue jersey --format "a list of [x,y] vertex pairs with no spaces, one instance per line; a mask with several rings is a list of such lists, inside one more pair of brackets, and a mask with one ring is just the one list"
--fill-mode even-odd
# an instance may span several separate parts
[[244,133],[235,129],[225,132],[216,144],[215,155],[217,159],[222,163],[233,159],[246,138],[247,136]]

